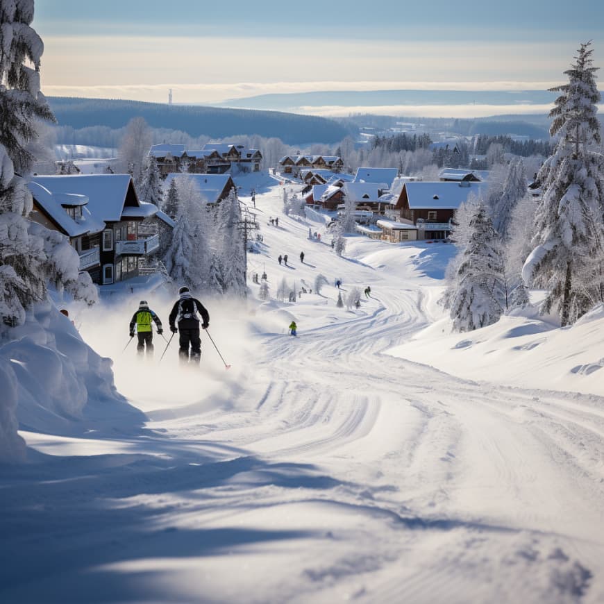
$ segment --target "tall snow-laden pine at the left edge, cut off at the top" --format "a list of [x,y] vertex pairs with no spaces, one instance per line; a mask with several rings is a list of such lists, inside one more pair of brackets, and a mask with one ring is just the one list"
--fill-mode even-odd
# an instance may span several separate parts
[[0,0],[0,329],[24,321],[26,309],[46,297],[49,279],[96,299],[90,276],[78,278],[79,258],[67,240],[53,257],[56,234],[26,219],[33,208],[24,180],[34,160],[29,149],[39,121],[54,120],[40,92],[44,44],[31,28],[33,12],[33,0]]

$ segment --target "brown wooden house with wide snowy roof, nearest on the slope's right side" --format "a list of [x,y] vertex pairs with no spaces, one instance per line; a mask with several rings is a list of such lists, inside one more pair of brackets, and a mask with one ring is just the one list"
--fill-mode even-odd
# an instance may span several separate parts
[[455,210],[470,195],[485,196],[488,186],[488,183],[469,181],[404,183],[387,215],[417,226],[418,239],[443,239],[451,230]]

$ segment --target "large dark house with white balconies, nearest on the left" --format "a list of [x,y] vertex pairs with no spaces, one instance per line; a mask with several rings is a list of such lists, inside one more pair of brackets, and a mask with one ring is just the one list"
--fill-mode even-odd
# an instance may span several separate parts
[[[54,211],[56,208],[52,208],[52,200],[64,211],[69,210],[67,213],[70,218],[75,217],[76,224],[83,226],[80,215],[87,219],[90,213],[94,232],[82,233],[81,250],[78,252],[82,252],[82,268],[99,285],[110,285],[137,276],[139,259],[158,249],[158,235],[144,237],[138,233],[139,224],[156,215],[158,208],[152,203],[139,201],[129,174],[36,176],[30,190],[41,215],[48,217],[53,212],[51,222],[60,216]],[[65,232],[65,224],[59,230]],[[72,231],[77,240],[76,232]],[[84,261],[89,255],[90,260]],[[86,266],[85,262],[91,264]]]

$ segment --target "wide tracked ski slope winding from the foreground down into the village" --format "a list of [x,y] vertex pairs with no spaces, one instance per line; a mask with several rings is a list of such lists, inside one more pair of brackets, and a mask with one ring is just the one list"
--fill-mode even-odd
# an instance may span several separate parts
[[[232,374],[206,370],[201,396],[197,375],[174,370],[171,398],[143,401],[144,368],[130,383],[117,368],[150,419],[143,432],[26,435],[66,456],[3,482],[3,599],[604,601],[602,400],[385,354],[438,312],[442,284],[426,272],[442,271],[448,246],[353,238],[354,260],[337,258],[280,199],[278,187],[256,196],[267,255],[250,272],[266,269],[272,296],[283,276],[330,285],[260,308],[251,335],[226,344]],[[374,297],[336,308],[335,278]],[[225,346],[219,320],[211,330]],[[106,328],[90,337],[100,349]]]

